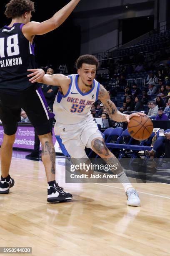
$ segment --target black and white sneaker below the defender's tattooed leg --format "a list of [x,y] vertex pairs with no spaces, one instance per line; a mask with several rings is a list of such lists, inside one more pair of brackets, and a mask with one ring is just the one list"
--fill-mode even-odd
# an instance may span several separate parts
[[48,185],[47,192],[47,202],[64,202],[72,199],[72,195],[64,192],[63,187],[59,187],[58,184],[54,184],[54,186]]

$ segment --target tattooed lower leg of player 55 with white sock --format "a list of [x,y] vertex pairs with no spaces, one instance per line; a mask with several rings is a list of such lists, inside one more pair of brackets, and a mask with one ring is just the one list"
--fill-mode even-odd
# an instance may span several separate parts
[[[122,186],[125,189],[125,192],[128,188],[133,187],[130,184],[128,177],[126,176],[119,160],[110,152],[110,150],[106,147],[105,142],[102,138],[95,138],[92,141],[92,149],[98,154],[108,165],[112,165],[112,172],[117,174],[119,182],[122,183]],[[116,168],[115,168],[116,166]]]

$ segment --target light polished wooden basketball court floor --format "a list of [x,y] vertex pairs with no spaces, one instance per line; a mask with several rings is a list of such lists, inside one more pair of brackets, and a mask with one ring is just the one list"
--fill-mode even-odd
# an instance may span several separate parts
[[135,184],[141,207],[126,205],[121,184],[65,184],[70,202],[49,204],[42,162],[13,158],[15,186],[0,195],[0,247],[32,255],[170,255],[170,184]]

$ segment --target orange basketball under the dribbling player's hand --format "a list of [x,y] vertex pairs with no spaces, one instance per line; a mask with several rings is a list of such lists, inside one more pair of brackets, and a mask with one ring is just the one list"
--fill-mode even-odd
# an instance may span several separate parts
[[135,140],[146,140],[153,132],[153,122],[147,115],[133,116],[128,123],[128,131]]

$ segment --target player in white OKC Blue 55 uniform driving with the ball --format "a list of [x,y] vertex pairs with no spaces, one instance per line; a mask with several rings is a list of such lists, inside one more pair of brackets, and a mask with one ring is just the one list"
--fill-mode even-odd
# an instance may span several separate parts
[[[95,80],[98,60],[92,55],[82,55],[77,59],[77,73],[65,76],[63,74],[47,75],[40,80],[40,69],[29,69],[31,82],[41,82],[59,86],[53,110],[55,113],[55,135],[60,136],[68,154],[74,159],[88,159],[85,146],[91,148],[107,164],[115,163],[115,156],[105,146],[102,134],[90,113],[91,105],[100,100],[112,120],[129,122],[133,116],[145,115],[133,113],[125,115],[120,113],[110,100],[107,90]],[[42,77],[42,76],[41,76]],[[128,177],[117,160],[116,174],[128,197],[127,204],[140,206],[138,193],[130,184]],[[112,172],[115,173],[114,170]]]

